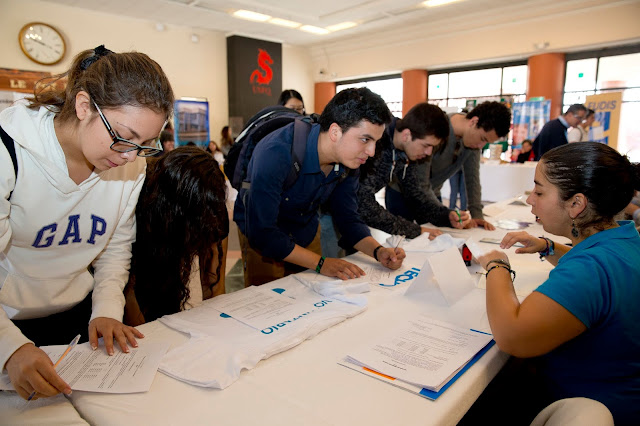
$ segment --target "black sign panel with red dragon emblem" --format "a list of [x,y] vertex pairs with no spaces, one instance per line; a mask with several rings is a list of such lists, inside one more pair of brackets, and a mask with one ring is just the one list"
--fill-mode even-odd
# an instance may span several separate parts
[[282,92],[282,45],[227,37],[227,79],[229,123],[236,135],[255,113],[278,103]]

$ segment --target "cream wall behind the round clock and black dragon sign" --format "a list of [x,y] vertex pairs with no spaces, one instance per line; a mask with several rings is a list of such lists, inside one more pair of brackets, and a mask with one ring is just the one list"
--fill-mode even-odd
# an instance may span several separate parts
[[[136,50],[157,61],[169,77],[177,98],[209,100],[211,138],[219,139],[227,125],[226,36],[221,32],[167,25],[158,32],[155,22],[90,12],[38,0],[0,0],[0,67],[31,71],[66,71],[73,57],[84,49],[104,44],[116,51]],[[67,43],[62,62],[44,66],[30,61],[20,50],[18,32],[28,22],[41,21],[60,30]],[[191,35],[200,41],[193,43]],[[313,107],[311,60],[306,49],[283,46],[283,87],[301,92],[305,105]],[[311,112],[311,111],[310,111]]]

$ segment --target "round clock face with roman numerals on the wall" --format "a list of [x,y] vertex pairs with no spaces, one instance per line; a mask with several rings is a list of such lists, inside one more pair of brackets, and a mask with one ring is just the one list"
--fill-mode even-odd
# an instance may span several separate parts
[[51,25],[32,22],[22,27],[18,37],[22,52],[34,62],[52,65],[64,56],[64,39]]

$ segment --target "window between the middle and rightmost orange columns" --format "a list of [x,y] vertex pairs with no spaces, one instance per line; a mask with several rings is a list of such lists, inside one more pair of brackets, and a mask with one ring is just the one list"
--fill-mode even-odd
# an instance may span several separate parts
[[524,62],[429,73],[428,101],[447,111],[460,111],[467,101],[523,102],[528,67]]

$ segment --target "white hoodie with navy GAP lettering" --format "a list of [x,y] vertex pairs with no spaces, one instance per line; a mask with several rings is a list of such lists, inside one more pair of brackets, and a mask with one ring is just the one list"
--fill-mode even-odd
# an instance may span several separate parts
[[138,158],[94,171],[77,185],[69,177],[53,117],[46,108],[34,111],[24,103],[0,112],[0,126],[14,139],[18,160],[16,179],[0,144],[2,369],[13,352],[30,342],[10,318],[66,311],[93,290],[91,319],[122,320],[146,162]]

